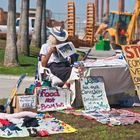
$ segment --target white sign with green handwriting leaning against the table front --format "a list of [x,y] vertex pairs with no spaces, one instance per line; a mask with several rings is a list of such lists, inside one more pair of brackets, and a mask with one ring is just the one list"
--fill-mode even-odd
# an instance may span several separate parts
[[81,93],[85,111],[109,111],[103,77],[89,76],[82,79]]

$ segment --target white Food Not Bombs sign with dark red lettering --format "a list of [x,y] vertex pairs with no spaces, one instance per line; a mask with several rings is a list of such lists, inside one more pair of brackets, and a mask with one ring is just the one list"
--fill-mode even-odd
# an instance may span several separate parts
[[56,111],[70,108],[70,91],[67,89],[41,89],[38,92],[37,111]]

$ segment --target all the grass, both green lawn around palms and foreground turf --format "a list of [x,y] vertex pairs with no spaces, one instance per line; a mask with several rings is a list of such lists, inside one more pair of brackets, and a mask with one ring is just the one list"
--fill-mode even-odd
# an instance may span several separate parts
[[[30,76],[34,76],[37,64],[37,57],[34,57],[36,52],[38,52],[38,50],[32,49],[30,57],[19,56],[20,66],[7,68],[3,66],[4,49],[3,47],[0,47],[0,74],[20,75],[28,73]],[[4,104],[5,99],[1,99],[0,103]],[[140,112],[140,107],[129,109]],[[10,138],[10,140],[140,140],[140,124],[109,127],[107,125],[102,125],[95,120],[87,120],[81,116],[67,115],[58,112],[53,112],[52,114],[57,119],[76,128],[77,132],[56,134],[48,137]],[[4,140],[4,138],[0,138],[0,140]]]

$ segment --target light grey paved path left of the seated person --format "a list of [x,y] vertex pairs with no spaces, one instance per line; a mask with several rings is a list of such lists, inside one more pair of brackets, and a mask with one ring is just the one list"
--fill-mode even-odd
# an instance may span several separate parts
[[[15,87],[19,76],[12,75],[0,75],[0,99],[9,97],[12,89]],[[34,77],[25,77],[18,93],[24,93],[25,88],[29,87],[30,84],[34,83]]]

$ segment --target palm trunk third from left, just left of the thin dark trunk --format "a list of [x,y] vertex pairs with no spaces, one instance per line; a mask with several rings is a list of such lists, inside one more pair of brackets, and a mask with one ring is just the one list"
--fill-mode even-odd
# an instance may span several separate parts
[[35,27],[34,33],[32,35],[31,45],[38,48],[41,47],[42,8],[43,8],[43,0],[37,0]]

